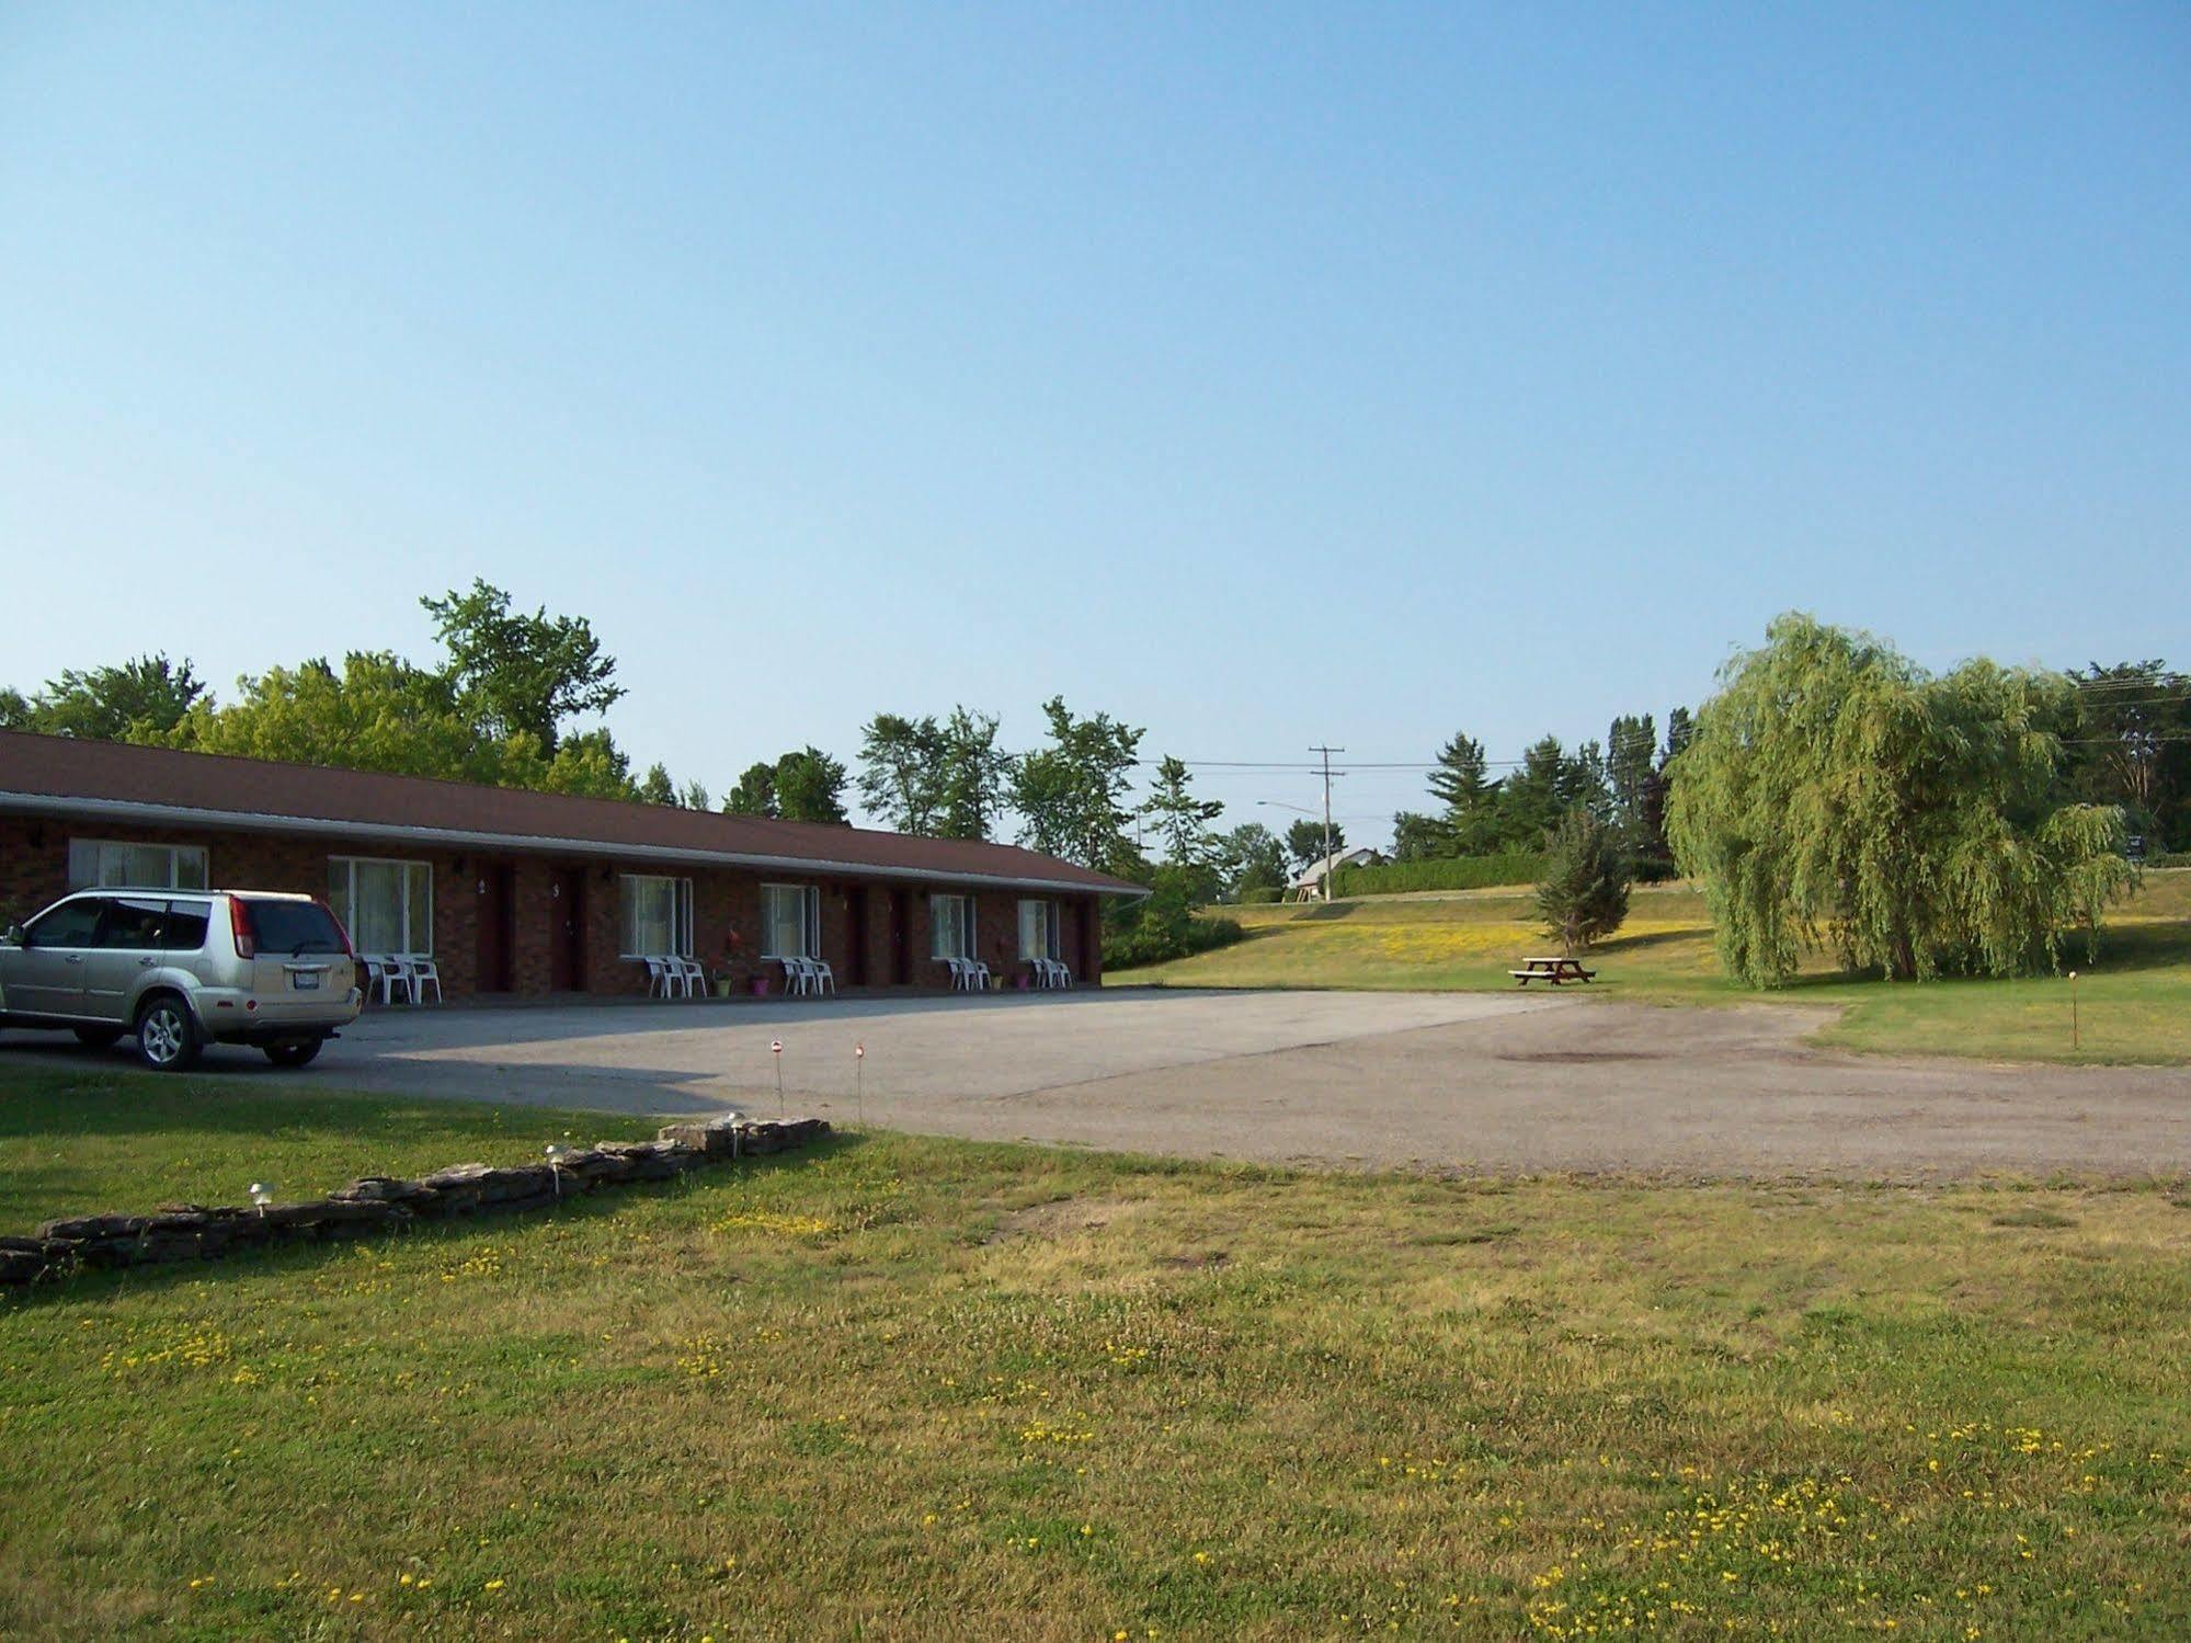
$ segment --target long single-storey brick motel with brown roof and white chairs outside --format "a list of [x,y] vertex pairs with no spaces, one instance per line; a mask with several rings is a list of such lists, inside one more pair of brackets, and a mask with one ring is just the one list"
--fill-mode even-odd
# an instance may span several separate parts
[[0,927],[72,889],[298,889],[447,997],[644,995],[646,957],[734,995],[784,957],[846,990],[1102,979],[1098,907],[1137,885],[1008,843],[0,732]]

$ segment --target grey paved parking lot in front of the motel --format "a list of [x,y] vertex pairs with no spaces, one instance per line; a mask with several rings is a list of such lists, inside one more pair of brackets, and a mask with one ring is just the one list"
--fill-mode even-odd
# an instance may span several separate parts
[[[1816,1023],[1786,1006],[1117,988],[386,1010],[305,1073],[234,1049],[208,1067],[335,1089],[769,1115],[780,1041],[789,1111],[977,1139],[1683,1176],[2191,1170],[2191,1069],[1851,1056],[1808,1047]],[[92,1052],[9,1034],[4,1054]]]

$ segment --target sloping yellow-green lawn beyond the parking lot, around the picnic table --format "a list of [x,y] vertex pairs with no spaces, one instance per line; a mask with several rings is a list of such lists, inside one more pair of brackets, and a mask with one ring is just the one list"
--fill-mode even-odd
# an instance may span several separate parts
[[[1225,907],[1247,940],[1174,964],[1115,970],[1120,986],[1512,990],[1523,957],[1553,951],[1532,894],[1376,896],[1330,907]],[[2145,874],[2114,909],[2099,960],[2075,942],[2079,1038],[2070,1045],[2070,984],[1886,984],[1836,975],[1814,957],[1794,986],[1759,995],[1731,984],[1711,951],[1705,900],[1685,885],[1637,887],[1621,933],[1593,949],[1593,997],[1645,1003],[1836,1006],[1823,1043],[1900,1054],[2070,1062],[2191,1060],[2191,868]]]

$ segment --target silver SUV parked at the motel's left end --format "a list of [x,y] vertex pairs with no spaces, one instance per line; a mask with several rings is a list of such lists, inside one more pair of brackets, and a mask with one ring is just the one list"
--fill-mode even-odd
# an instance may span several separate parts
[[0,1027],[136,1034],[158,1071],[208,1043],[302,1067],[362,1006],[357,953],[316,896],[85,889],[0,935]]

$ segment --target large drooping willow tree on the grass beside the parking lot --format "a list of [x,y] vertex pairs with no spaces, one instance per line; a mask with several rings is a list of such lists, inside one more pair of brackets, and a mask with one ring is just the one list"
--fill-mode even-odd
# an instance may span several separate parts
[[2044,970],[2127,887],[2121,811],[2064,800],[2066,677],[1932,677],[1783,616],[1720,679],[1667,830],[1729,975],[1777,986],[1803,949],[1895,979]]

